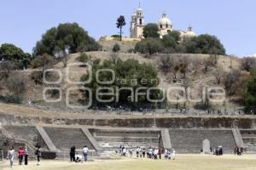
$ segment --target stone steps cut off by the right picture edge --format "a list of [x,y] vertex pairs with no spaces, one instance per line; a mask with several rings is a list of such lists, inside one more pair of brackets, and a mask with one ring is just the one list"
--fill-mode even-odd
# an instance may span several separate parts
[[256,154],[256,130],[240,130],[247,153]]

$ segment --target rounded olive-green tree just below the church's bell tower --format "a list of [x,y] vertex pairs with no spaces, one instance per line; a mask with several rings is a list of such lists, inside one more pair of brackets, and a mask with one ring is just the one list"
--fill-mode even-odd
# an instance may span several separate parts
[[162,52],[164,49],[163,42],[159,38],[148,37],[141,42],[137,42],[135,51],[142,54],[156,54]]

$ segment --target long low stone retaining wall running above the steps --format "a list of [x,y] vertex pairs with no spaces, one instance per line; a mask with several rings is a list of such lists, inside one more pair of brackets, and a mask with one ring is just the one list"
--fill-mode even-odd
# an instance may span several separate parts
[[73,119],[53,117],[28,117],[0,114],[3,125],[84,125],[108,127],[160,127],[160,128],[254,128],[256,117],[252,116],[180,116],[180,117],[148,117],[148,118],[104,118]]

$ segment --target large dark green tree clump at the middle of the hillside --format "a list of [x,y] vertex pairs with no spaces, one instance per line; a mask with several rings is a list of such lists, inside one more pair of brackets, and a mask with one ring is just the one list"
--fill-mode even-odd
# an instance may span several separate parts
[[[96,71],[100,69],[111,69],[115,72],[115,79],[112,84],[100,84],[96,81]],[[157,87],[159,84],[159,78],[157,75],[157,70],[155,69],[154,65],[145,63],[140,64],[136,59],[127,59],[125,61],[117,59],[117,61],[114,63],[111,60],[104,60],[102,64],[92,65],[92,81],[88,84],[85,84],[84,86],[86,88],[92,89],[93,105],[106,105],[106,103],[102,104],[96,100],[96,90],[100,87],[108,87],[113,88],[114,92],[116,92],[119,95],[114,94],[113,96],[111,96],[111,98],[113,97],[114,99],[118,99],[118,102],[108,102],[107,105],[121,105],[122,103],[125,103],[125,105],[129,105],[131,107],[135,106],[141,108],[145,103],[148,103],[150,105],[146,98],[146,95],[142,94],[138,96],[138,102],[132,102],[134,101],[135,96],[131,95],[131,90],[120,90],[118,92],[116,91],[116,88],[131,88],[135,92],[137,88],[141,87]],[[84,82],[84,80],[88,80],[88,77],[89,75],[84,75],[83,77],[81,77],[81,81]],[[112,74],[108,71],[102,71],[98,79],[101,81],[112,80]],[[146,91],[146,89],[142,89],[140,93]],[[108,93],[109,90],[101,92]],[[151,99],[159,99],[159,97],[159,91],[153,90],[150,92]],[[102,95],[100,96],[100,98],[109,99],[109,95]]]

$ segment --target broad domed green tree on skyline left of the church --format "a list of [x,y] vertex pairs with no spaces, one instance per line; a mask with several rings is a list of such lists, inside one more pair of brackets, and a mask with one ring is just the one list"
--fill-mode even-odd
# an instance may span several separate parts
[[55,56],[55,53],[59,51],[66,53],[66,47],[69,47],[70,53],[80,52],[81,49],[84,51],[100,49],[95,39],[90,37],[87,31],[84,31],[77,23],[65,23],[46,31],[33,48],[33,54]]

